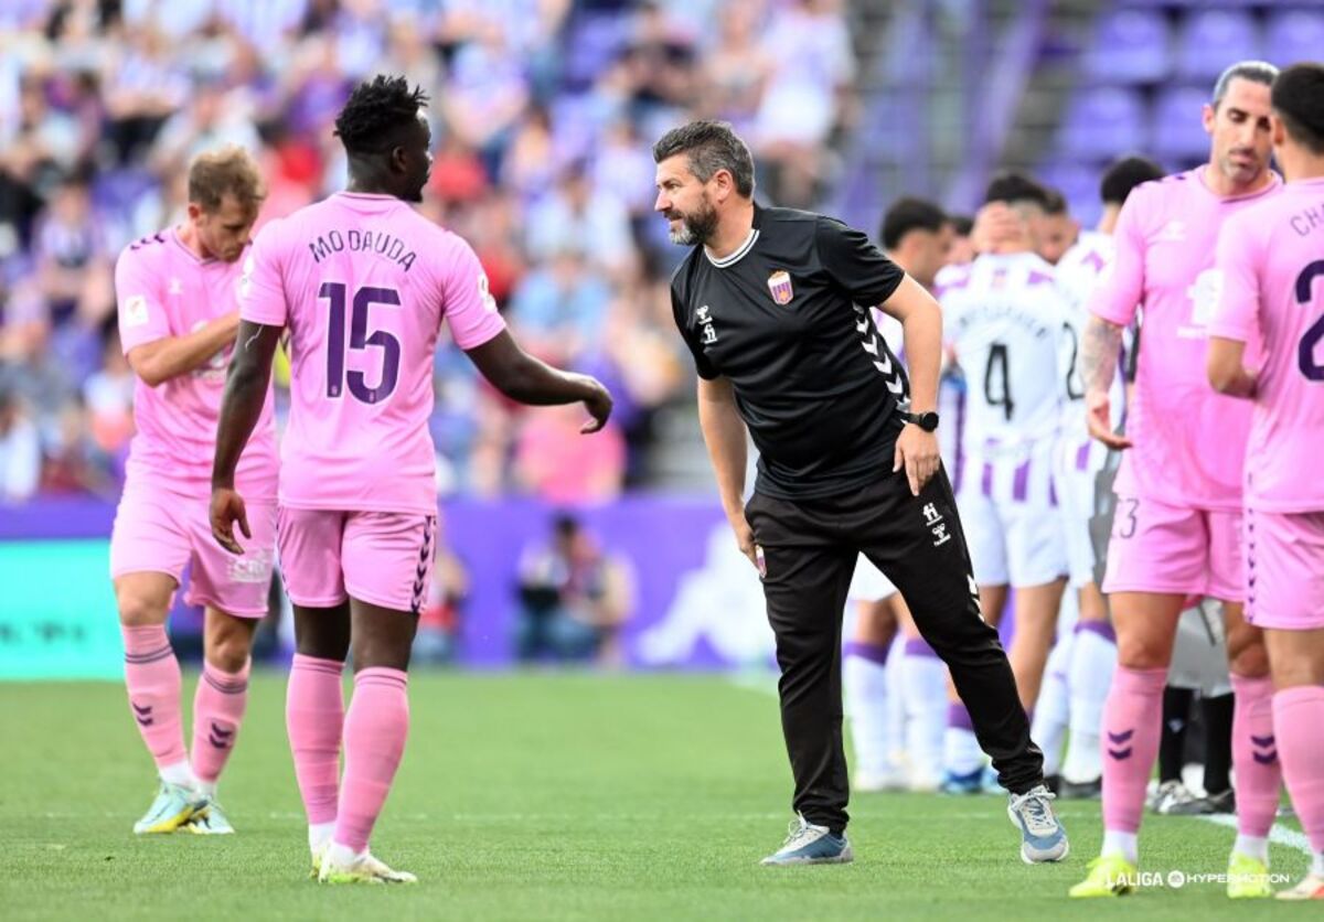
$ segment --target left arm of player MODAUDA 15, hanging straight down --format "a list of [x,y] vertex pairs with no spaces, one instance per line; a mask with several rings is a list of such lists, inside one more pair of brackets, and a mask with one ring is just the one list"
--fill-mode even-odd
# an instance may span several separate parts
[[234,523],[244,537],[252,537],[244,497],[234,491],[234,470],[248,444],[253,427],[262,415],[266,388],[271,381],[271,358],[281,343],[281,327],[266,327],[244,320],[230,372],[225,378],[221,421],[216,431],[216,459],[212,463],[212,534],[234,554],[244,548],[234,540]]

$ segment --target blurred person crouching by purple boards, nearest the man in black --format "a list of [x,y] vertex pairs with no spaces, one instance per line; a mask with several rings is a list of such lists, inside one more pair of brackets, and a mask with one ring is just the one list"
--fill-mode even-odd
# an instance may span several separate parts
[[620,665],[621,626],[634,610],[634,581],[605,554],[580,521],[563,513],[547,546],[526,552],[519,567],[520,661],[557,660]]

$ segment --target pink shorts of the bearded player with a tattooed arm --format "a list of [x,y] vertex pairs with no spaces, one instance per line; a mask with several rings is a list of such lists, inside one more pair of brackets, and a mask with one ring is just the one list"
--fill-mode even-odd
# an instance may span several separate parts
[[1210,512],[1117,496],[1104,593],[1180,593],[1241,602],[1241,512]]

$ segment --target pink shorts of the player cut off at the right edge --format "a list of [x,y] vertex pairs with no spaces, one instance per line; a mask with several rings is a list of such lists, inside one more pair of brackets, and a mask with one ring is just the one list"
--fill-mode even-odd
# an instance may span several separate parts
[[1324,628],[1324,512],[1246,509],[1246,620]]

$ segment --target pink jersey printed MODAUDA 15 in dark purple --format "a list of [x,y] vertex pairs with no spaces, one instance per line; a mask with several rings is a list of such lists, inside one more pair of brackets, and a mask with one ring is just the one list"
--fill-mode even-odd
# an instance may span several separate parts
[[245,266],[241,316],[290,331],[281,503],[436,515],[433,352],[506,324],[473,249],[391,196],[342,192],[273,221]]

